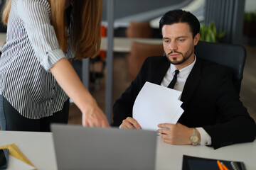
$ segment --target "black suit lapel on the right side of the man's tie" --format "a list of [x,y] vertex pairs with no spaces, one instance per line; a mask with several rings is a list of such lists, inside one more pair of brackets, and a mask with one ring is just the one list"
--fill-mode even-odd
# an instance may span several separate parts
[[186,107],[188,106],[189,101],[193,94],[196,91],[196,88],[201,80],[201,69],[202,69],[202,62],[198,58],[196,59],[196,63],[191,70],[191,73],[188,75],[188,79],[186,80],[182,95],[181,101],[183,101],[181,107],[184,111],[186,111]]

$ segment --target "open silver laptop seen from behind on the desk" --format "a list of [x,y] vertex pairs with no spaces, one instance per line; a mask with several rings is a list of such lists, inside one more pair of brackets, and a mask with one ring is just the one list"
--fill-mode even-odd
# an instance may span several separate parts
[[51,125],[58,169],[155,169],[156,132]]

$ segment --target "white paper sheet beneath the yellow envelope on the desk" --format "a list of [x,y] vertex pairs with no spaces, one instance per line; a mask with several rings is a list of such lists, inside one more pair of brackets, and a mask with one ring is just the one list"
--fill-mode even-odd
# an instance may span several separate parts
[[9,155],[9,163],[8,163],[8,168],[6,170],[33,170],[33,169],[36,169],[36,168]]

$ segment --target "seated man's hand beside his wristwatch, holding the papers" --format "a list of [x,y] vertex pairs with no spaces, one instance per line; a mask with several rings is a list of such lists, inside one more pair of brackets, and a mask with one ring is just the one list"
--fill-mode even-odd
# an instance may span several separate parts
[[[192,128],[188,128],[181,123],[171,124],[171,123],[162,123],[158,125],[159,129],[157,130],[160,133],[161,139],[169,144],[172,145],[191,145],[191,135],[192,135]],[[199,141],[201,140],[200,134],[198,130]]]

